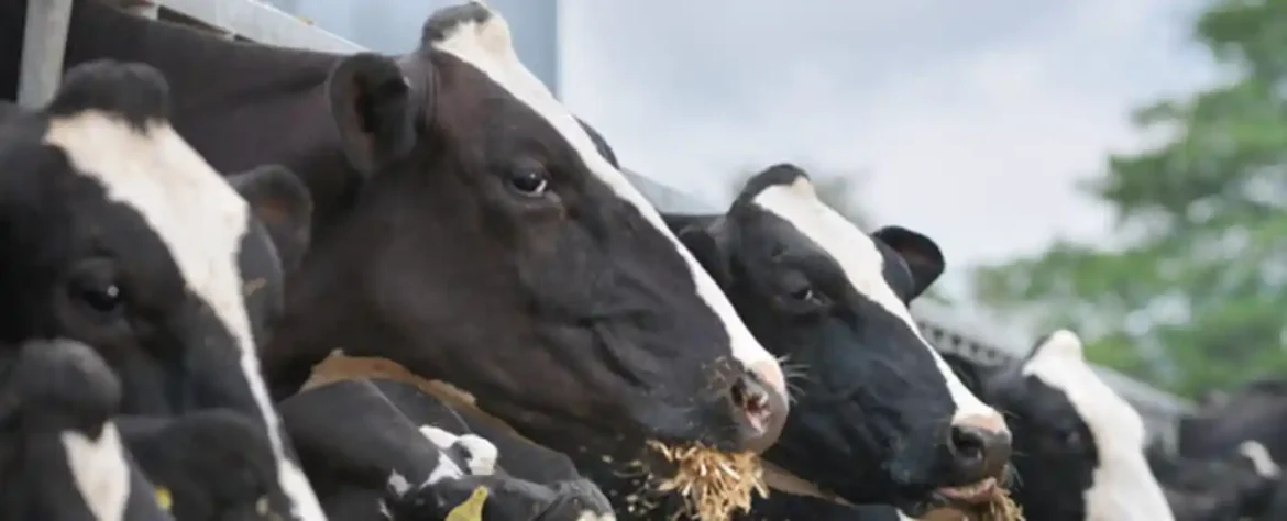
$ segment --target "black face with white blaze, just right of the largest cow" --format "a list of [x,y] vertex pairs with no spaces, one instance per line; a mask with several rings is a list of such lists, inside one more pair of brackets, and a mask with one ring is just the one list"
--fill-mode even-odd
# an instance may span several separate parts
[[680,237],[752,332],[801,372],[770,459],[846,499],[911,512],[933,495],[990,491],[1009,457],[1005,422],[907,310],[943,270],[931,239],[896,226],[862,233],[789,165],[754,176],[722,219],[681,220]]

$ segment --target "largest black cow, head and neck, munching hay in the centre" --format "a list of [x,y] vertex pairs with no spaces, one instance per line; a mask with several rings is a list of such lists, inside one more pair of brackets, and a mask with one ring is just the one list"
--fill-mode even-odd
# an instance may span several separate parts
[[[12,84],[24,1],[0,5]],[[499,14],[439,10],[399,57],[227,41],[97,3],[69,27],[68,63],[165,72],[176,129],[218,169],[281,162],[309,187],[313,243],[261,350],[275,398],[338,347],[449,381],[556,450],[777,439],[777,360],[517,60]]]

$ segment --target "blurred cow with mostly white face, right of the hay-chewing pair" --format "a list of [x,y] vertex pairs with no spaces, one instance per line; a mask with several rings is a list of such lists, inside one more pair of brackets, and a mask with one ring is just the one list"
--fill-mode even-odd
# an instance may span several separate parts
[[1172,521],[1144,457],[1144,421],[1057,329],[1017,363],[945,355],[1014,432],[1014,499],[1031,520]]

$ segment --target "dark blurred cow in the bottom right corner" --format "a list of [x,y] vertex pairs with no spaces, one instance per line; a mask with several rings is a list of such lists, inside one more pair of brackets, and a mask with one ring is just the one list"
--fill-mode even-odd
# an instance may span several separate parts
[[1176,521],[1260,518],[1282,481],[1282,470],[1259,441],[1245,441],[1223,458],[1193,459],[1158,444],[1147,452]]

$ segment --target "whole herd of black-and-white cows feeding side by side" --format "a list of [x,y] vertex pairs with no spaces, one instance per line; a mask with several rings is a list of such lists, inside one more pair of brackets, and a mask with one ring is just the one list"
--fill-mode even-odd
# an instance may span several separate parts
[[668,520],[653,440],[761,453],[745,520],[1287,520],[1283,382],[1162,448],[1072,332],[940,354],[932,239],[790,165],[660,214],[481,4],[385,57],[79,0],[66,64],[0,104],[0,520]]

